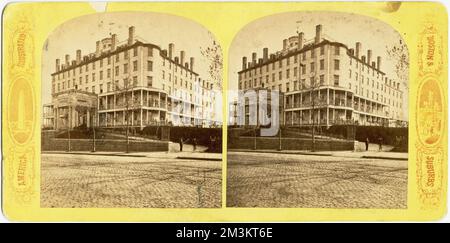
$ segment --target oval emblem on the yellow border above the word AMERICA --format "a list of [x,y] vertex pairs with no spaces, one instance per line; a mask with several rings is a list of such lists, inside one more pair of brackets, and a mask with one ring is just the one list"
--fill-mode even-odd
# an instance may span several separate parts
[[30,83],[20,77],[13,81],[8,99],[8,124],[13,140],[28,142],[34,130],[34,100]]

